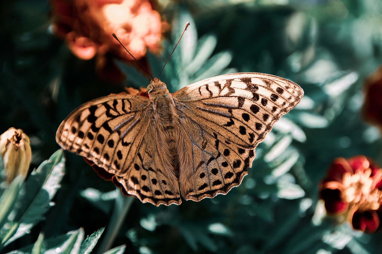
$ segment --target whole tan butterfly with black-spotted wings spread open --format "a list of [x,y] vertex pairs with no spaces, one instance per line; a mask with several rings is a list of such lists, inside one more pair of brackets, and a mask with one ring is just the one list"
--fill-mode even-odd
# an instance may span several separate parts
[[115,175],[124,193],[155,206],[179,205],[180,195],[213,198],[240,185],[256,146],[304,93],[289,80],[251,72],[175,93],[154,78],[147,92],[149,98],[109,95],[84,103],[65,118],[56,140]]

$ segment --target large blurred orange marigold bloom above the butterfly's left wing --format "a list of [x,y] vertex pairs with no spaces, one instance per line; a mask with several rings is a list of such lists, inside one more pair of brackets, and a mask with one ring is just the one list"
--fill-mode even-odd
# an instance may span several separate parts
[[148,48],[157,52],[162,37],[160,14],[149,0],[51,0],[53,32],[65,39],[80,59],[112,53],[121,59],[131,56],[112,36],[115,33],[137,59]]

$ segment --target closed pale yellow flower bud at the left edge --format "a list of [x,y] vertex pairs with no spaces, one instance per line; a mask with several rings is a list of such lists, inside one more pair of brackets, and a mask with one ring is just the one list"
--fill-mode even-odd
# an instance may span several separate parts
[[18,175],[26,177],[32,156],[29,137],[20,129],[9,128],[0,135],[0,156],[8,183]]

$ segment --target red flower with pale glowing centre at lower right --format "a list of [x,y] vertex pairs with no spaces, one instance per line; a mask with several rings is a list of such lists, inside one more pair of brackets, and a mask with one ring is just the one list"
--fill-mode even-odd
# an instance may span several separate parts
[[363,155],[336,158],[320,184],[320,198],[328,214],[348,212],[354,229],[372,233],[379,227],[382,169]]

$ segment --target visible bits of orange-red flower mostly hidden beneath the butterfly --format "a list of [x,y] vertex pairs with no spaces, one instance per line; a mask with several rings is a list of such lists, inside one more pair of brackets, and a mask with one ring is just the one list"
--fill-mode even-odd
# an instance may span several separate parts
[[[139,95],[139,96],[145,96],[145,97],[149,98],[149,94],[147,93],[147,90],[144,87],[140,87],[139,90],[135,89],[133,87],[125,87],[125,90],[126,90],[126,92],[121,92],[118,94]],[[97,175],[99,177],[101,177],[102,179],[104,179],[106,181],[112,181],[115,184],[115,186],[117,186],[118,188],[121,189],[121,192],[123,195],[133,196],[133,195],[129,195],[126,192],[125,188],[117,181],[114,174],[109,173],[105,169],[103,169],[102,167],[97,166],[93,161],[86,159],[85,157],[83,157],[83,158],[86,161],[86,163],[89,164],[94,169],[94,171],[97,173]]]

